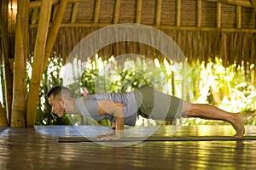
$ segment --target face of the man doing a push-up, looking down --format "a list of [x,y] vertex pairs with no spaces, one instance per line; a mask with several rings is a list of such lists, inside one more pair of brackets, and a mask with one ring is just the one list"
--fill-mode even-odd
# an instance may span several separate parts
[[60,96],[49,96],[49,105],[51,105],[51,111],[55,113],[57,116],[62,117],[65,115],[65,109],[63,105],[63,101]]

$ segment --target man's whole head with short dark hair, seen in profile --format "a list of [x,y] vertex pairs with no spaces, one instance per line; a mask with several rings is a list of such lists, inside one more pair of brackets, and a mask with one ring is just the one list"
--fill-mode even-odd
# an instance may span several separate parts
[[65,87],[57,86],[51,88],[47,94],[51,111],[57,116],[62,117],[67,111],[67,103],[73,99],[73,93]]

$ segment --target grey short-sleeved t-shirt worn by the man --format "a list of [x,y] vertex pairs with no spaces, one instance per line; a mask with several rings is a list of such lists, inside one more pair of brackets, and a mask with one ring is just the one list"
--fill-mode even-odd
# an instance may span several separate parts
[[110,94],[90,94],[78,99],[75,99],[75,108],[82,116],[92,118],[96,121],[109,119],[110,122],[114,121],[114,116],[99,115],[98,100],[111,100],[123,104],[125,125],[135,126],[137,119],[137,101],[134,93],[110,93]]

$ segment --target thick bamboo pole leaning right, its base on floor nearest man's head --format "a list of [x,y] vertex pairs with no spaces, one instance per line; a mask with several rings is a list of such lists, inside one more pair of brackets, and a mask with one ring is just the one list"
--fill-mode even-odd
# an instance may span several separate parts
[[44,67],[44,62],[42,62],[42,56],[44,56],[45,52],[51,6],[52,0],[42,0],[38,24],[38,34],[35,44],[34,61],[32,64],[32,79],[30,82],[29,93],[27,96],[27,127],[32,127],[36,119],[40,81]]

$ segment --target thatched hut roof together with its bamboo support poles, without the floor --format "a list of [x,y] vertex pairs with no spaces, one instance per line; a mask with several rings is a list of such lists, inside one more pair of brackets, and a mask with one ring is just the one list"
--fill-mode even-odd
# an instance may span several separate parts
[[[218,55],[224,65],[255,64],[255,11],[255,0],[3,0],[0,52],[8,116],[2,124],[32,127],[48,59],[53,53],[66,59],[81,39],[105,26],[152,26],[172,37],[189,62]],[[155,49],[119,42],[99,53],[151,57]],[[26,94],[26,59],[31,55],[32,82]]]

